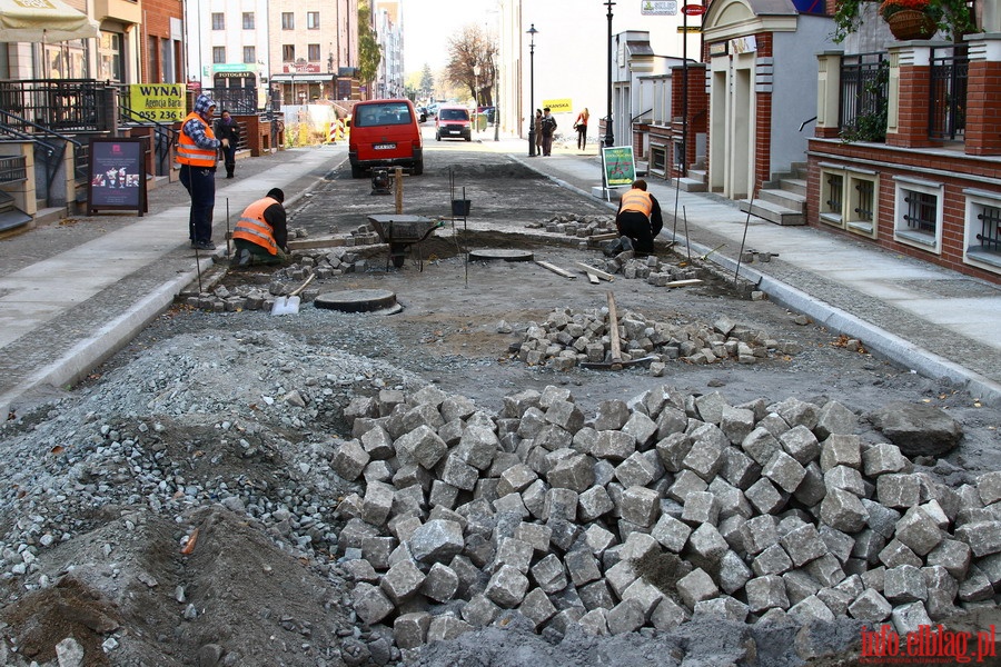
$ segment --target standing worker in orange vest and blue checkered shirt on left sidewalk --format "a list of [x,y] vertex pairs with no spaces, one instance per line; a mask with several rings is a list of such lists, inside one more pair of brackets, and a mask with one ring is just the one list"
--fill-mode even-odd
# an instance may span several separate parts
[[188,216],[188,236],[197,250],[215,250],[212,242],[212,210],[216,207],[216,165],[219,147],[229,148],[228,139],[216,139],[212,116],[216,102],[207,94],[199,94],[195,109],[188,113],[177,140],[177,161],[180,163],[180,181],[191,196]]

